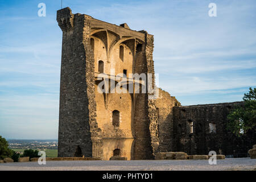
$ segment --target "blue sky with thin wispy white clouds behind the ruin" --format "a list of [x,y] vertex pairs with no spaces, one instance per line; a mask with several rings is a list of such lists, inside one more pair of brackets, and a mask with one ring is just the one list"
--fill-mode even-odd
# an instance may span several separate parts
[[[46,17],[38,4],[46,4]],[[57,139],[61,1],[0,0],[0,135]],[[217,17],[208,16],[216,3]],[[241,101],[256,86],[256,1],[67,1],[63,7],[155,37],[159,86],[182,105]]]

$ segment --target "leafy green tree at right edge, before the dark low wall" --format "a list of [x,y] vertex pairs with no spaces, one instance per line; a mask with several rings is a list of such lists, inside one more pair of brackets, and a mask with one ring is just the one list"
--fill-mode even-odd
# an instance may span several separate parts
[[256,126],[256,88],[249,88],[243,97],[245,105],[238,106],[228,115],[228,129],[237,136],[255,130]]

